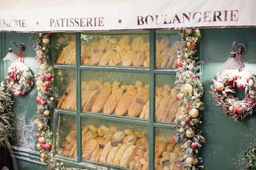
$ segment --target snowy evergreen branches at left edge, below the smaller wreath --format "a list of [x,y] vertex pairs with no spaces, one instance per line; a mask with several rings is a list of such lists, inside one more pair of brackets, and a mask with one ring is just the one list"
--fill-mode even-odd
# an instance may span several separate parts
[[6,146],[8,137],[13,137],[14,115],[11,94],[5,89],[4,83],[0,85],[0,147]]

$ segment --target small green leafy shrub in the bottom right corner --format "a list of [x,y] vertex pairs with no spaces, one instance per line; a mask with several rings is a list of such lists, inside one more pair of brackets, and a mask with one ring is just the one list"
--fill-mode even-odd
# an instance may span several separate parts
[[245,151],[245,159],[247,161],[246,169],[247,170],[256,170],[256,147],[248,148]]

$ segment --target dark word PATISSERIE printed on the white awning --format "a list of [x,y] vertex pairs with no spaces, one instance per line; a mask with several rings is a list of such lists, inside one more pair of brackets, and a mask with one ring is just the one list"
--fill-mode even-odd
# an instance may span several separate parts
[[104,26],[103,17],[50,19],[50,27]]

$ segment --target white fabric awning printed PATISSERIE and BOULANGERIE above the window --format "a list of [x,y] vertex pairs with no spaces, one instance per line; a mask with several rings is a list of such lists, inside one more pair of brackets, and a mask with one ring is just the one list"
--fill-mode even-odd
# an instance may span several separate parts
[[255,0],[4,0],[1,32],[255,27]]

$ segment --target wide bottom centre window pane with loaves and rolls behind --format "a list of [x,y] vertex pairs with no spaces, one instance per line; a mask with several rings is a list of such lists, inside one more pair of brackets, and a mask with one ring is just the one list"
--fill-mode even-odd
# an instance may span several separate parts
[[82,117],[82,158],[122,168],[148,166],[148,127]]

